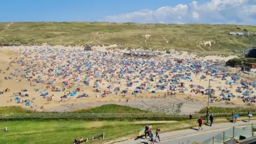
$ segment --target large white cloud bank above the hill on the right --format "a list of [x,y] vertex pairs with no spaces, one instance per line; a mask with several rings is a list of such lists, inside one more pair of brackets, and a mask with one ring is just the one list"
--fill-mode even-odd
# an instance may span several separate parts
[[236,23],[256,25],[256,0],[211,0],[204,4],[163,6],[159,9],[109,15],[109,22]]

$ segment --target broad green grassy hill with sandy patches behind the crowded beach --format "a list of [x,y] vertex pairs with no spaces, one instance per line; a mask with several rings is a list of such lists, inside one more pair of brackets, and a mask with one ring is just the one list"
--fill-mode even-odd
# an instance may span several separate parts
[[165,25],[108,22],[0,23],[0,45],[109,45],[119,49],[177,49],[198,53],[230,53],[256,45],[256,36],[229,36],[229,32],[256,33],[255,26]]

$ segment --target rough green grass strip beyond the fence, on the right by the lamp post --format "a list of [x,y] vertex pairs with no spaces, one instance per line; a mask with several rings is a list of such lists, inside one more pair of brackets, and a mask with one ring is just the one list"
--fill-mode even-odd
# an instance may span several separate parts
[[[234,107],[234,108],[230,108],[230,107],[210,107],[211,109],[211,113],[213,114],[218,114],[218,113],[232,113],[232,111],[235,111],[235,113],[246,113],[249,110],[251,112],[256,112],[256,107],[250,107],[250,108],[246,108],[246,107]],[[198,114],[206,114],[206,108],[203,108],[201,110],[199,110],[198,112],[196,112]]]

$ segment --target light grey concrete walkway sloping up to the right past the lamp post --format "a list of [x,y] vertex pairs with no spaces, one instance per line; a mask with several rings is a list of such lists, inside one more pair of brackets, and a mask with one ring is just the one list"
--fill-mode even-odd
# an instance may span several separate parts
[[[187,130],[180,130],[180,131],[172,131],[172,132],[166,132],[166,133],[160,133],[161,137],[161,142],[165,143],[167,141],[173,141],[177,139],[184,139],[187,137],[191,137],[194,135],[201,135],[206,132],[216,132],[216,131],[221,131],[221,130],[227,130],[228,128],[231,128],[233,126],[246,126],[246,125],[251,125],[252,123],[255,123],[256,126],[256,120],[251,121],[251,122],[243,122],[239,121],[237,123],[220,123],[220,124],[213,124],[212,127],[204,125],[203,130],[197,131],[198,127],[194,127],[192,129],[187,129]],[[218,133],[217,133],[218,134]],[[155,132],[154,132],[155,136]],[[214,135],[213,135],[214,136]],[[126,140],[123,142],[118,142],[118,144],[139,144],[139,143],[150,143],[149,138],[146,140],[143,138],[135,138],[132,140]]]

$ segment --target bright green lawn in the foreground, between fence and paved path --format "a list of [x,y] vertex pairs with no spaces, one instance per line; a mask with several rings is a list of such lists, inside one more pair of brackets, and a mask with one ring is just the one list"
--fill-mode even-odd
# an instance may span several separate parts
[[[240,118],[242,119],[242,117]],[[225,118],[215,118],[215,123],[227,122]],[[150,124],[150,122],[147,122]],[[153,123],[153,122],[151,122]],[[103,143],[118,138],[135,138],[145,124],[129,121],[9,121],[0,122],[0,127],[8,126],[9,131],[1,132],[0,143],[72,143],[75,137],[91,138],[105,132],[104,140],[88,143]],[[172,123],[153,123],[161,132],[189,129],[197,126],[196,120]]]

